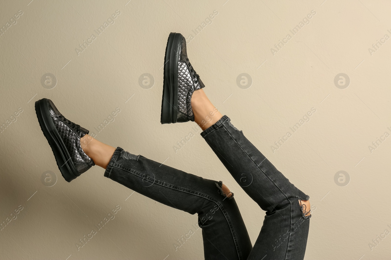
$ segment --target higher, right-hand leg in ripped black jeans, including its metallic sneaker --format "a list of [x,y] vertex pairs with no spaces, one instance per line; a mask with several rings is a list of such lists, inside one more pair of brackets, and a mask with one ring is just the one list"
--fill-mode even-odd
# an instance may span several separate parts
[[[297,189],[222,116],[204,94],[187,56],[186,39],[170,33],[164,63],[162,124],[195,121],[244,191],[266,210],[251,259],[303,259],[308,235],[308,196]],[[308,209],[308,210],[307,210]]]

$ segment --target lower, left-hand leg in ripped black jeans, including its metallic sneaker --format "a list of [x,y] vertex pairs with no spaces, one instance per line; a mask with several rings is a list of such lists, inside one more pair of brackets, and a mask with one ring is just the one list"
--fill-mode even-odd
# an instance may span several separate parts
[[[246,259],[252,246],[233,194],[222,182],[176,170],[111,147],[88,135],[84,127],[66,119],[50,99],[35,103],[39,126],[47,139],[61,175],[68,182],[92,166],[104,176],[160,203],[198,214],[205,259]],[[197,228],[198,229],[198,228]],[[189,230],[178,247],[190,238]]]

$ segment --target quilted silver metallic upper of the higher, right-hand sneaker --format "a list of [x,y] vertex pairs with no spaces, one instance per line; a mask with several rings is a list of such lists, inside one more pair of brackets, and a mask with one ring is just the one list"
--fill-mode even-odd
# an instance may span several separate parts
[[178,60],[178,114],[177,122],[194,121],[191,99],[194,90],[205,87],[189,62],[186,39],[182,37]]

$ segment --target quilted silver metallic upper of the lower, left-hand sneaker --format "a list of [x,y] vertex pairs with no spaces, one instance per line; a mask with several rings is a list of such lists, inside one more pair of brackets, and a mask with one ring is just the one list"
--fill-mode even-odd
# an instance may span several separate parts
[[57,110],[50,99],[48,99],[48,108],[54,125],[56,126],[56,129],[61,136],[61,140],[63,140],[76,169],[80,174],[86,172],[91,166],[95,165],[92,159],[84,153],[80,146],[80,138],[85,134],[88,134],[89,131],[67,120]]

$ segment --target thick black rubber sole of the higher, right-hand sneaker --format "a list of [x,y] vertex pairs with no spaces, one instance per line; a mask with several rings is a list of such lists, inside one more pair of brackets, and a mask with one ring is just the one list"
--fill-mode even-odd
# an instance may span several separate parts
[[167,39],[164,56],[163,97],[161,99],[161,124],[176,123],[178,106],[178,60],[182,34],[172,32]]

